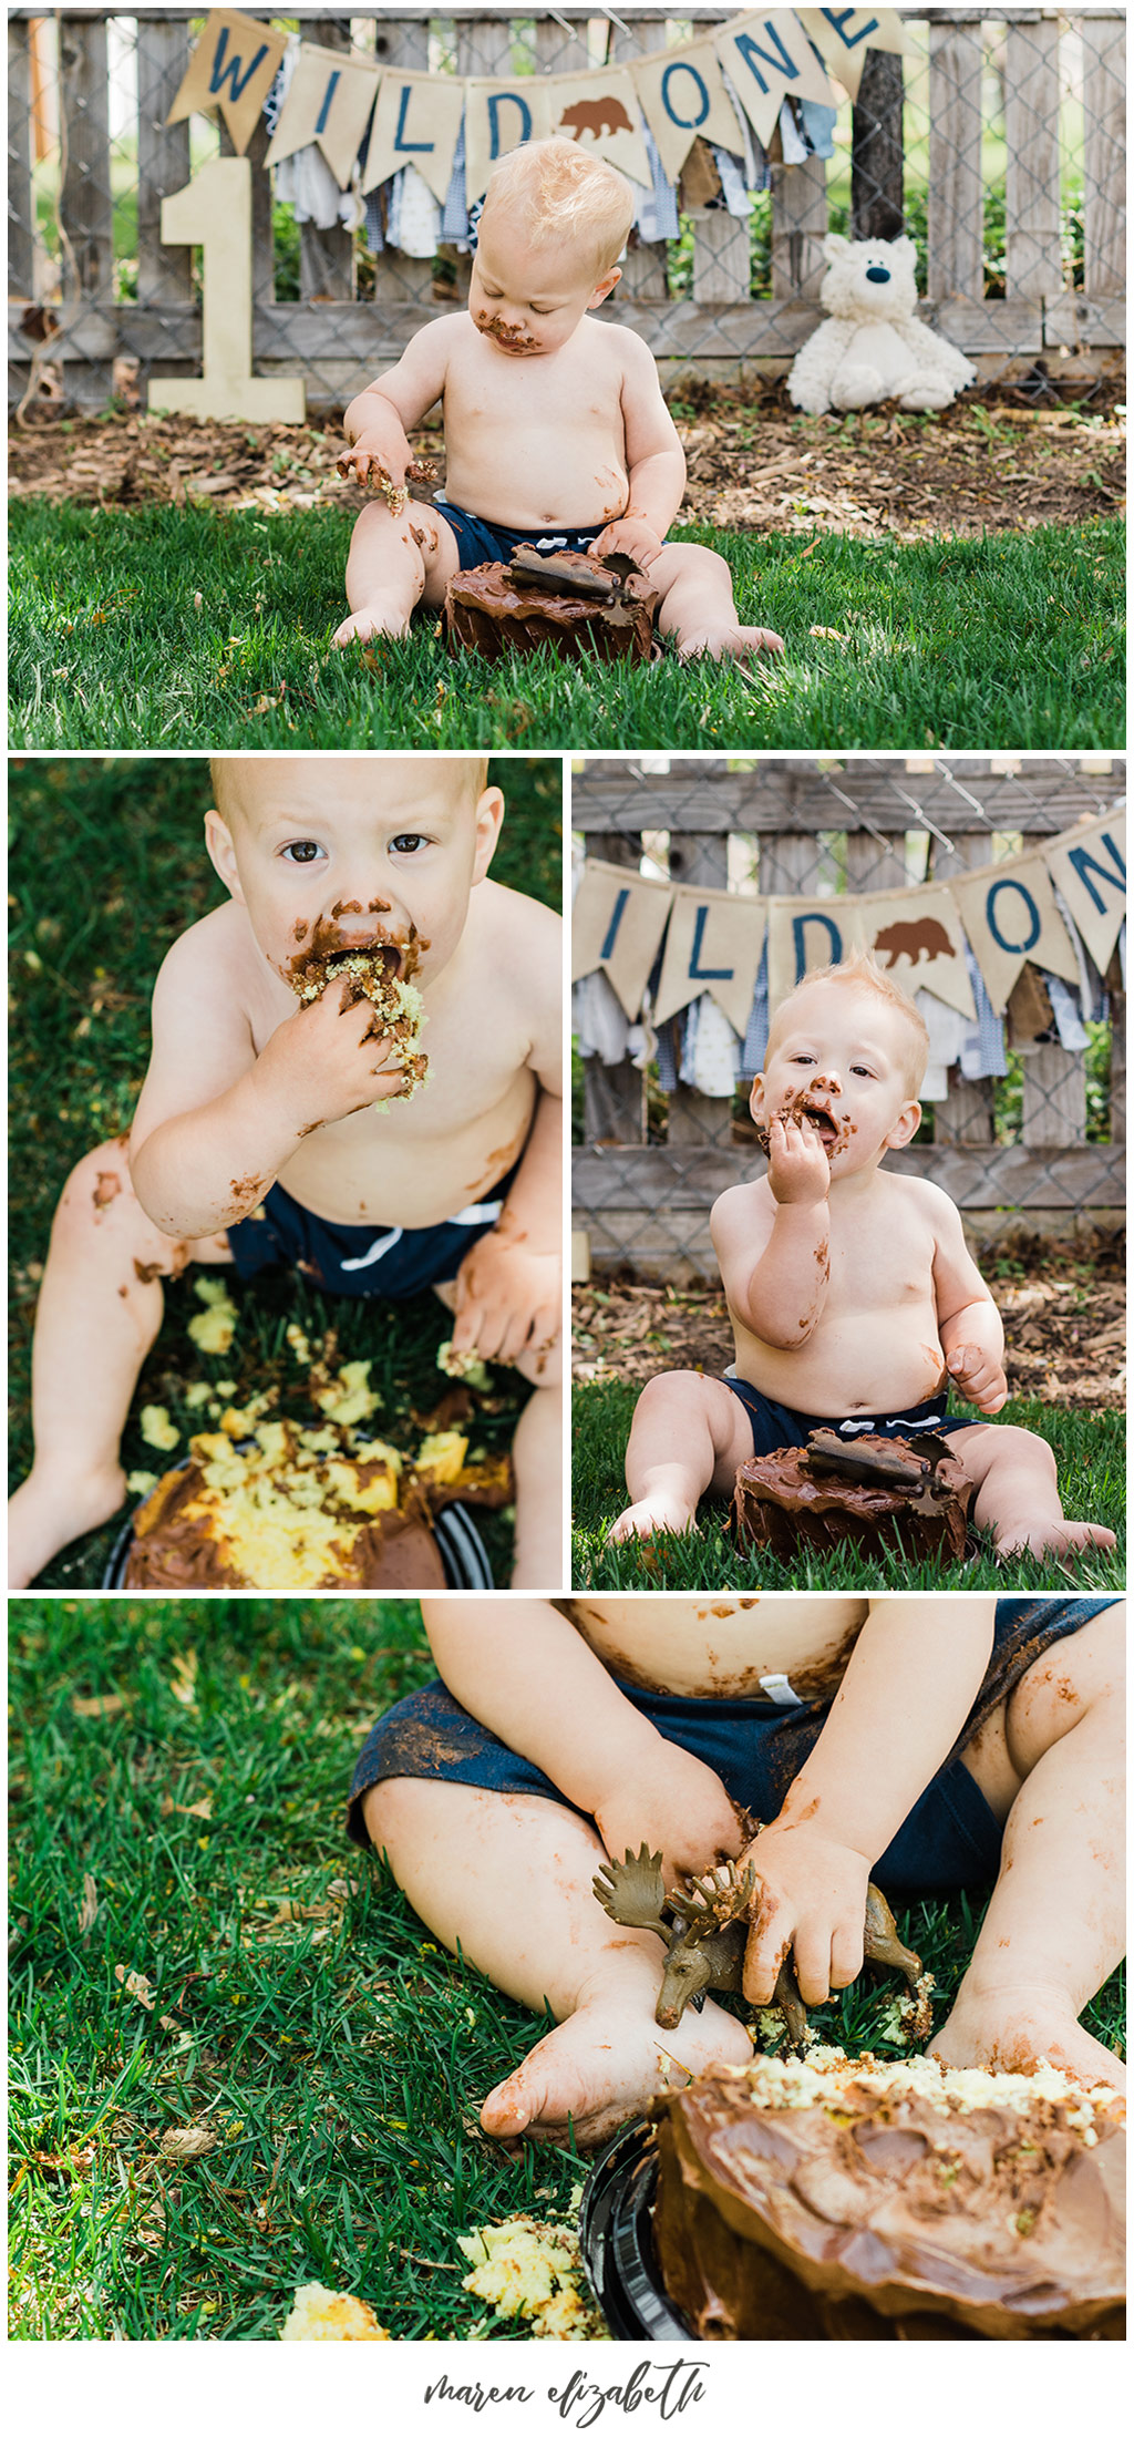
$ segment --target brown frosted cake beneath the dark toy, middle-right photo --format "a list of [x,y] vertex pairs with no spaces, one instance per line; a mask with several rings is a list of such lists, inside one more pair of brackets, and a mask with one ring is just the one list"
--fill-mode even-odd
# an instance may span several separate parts
[[[853,1449],[919,1461],[904,1436],[855,1436]],[[863,1554],[894,1554],[894,1532],[909,1559],[951,1554],[960,1561],[973,1480],[946,1454],[936,1463],[936,1485],[938,1498],[914,1505],[902,1490],[850,1485],[811,1468],[807,1446],[794,1444],[741,1463],[731,1532],[741,1547],[770,1547],[782,1561],[802,1544],[836,1547],[841,1539],[853,1539]]]

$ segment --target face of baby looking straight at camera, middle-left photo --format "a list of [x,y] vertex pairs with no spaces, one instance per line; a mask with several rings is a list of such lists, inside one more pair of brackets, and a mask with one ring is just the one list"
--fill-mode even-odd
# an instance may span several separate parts
[[240,756],[208,852],[291,984],[305,952],[428,945],[415,981],[452,959],[472,886],[501,825],[499,790],[477,798],[467,761],[440,756]]

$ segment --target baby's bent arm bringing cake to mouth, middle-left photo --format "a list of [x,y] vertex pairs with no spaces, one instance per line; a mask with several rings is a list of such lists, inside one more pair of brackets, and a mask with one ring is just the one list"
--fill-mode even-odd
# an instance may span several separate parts
[[257,1057],[230,962],[208,927],[208,918],[191,927],[161,964],[130,1135],[130,1177],[147,1216],[186,1241],[247,1216],[308,1131],[403,1086],[389,1040],[367,1040],[371,1006],[342,1011],[335,991],[296,1006]]

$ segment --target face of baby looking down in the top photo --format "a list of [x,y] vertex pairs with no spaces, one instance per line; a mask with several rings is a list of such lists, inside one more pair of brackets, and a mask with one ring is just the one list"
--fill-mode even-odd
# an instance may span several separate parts
[[579,247],[533,240],[511,210],[486,210],[472,257],[469,313],[503,357],[555,357],[618,272],[594,279]]

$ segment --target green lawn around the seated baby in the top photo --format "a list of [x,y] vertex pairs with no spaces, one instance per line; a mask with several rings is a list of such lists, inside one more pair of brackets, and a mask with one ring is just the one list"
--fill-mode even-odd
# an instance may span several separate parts
[[[1112,749],[1122,521],[860,543],[679,529],[780,629],[750,675],[450,658],[418,624],[337,656],[347,511],[12,504],[15,746]],[[196,609],[200,595],[200,609]],[[838,629],[814,639],[811,626]]]

